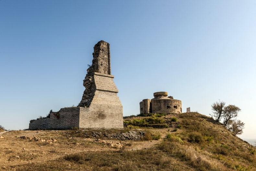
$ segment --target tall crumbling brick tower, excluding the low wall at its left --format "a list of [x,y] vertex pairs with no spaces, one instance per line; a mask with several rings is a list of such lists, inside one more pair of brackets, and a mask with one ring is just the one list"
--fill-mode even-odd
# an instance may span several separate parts
[[[118,89],[111,75],[110,45],[103,40],[94,46],[92,65],[84,79],[85,91],[79,107],[89,109],[96,116],[97,127],[123,128],[122,104],[117,96]],[[85,125],[87,125],[85,121]]]

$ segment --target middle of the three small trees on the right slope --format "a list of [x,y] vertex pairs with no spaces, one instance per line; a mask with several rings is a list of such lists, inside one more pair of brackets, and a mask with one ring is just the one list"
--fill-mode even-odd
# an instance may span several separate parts
[[239,111],[241,109],[235,105],[225,106],[223,110],[223,124],[227,127],[227,125],[231,124],[231,121],[236,120]]

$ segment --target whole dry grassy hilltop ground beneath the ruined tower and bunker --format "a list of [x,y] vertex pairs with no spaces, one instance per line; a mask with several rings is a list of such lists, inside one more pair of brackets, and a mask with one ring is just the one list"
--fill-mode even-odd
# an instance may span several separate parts
[[256,170],[256,148],[199,113],[124,123],[123,130],[9,131],[0,170]]

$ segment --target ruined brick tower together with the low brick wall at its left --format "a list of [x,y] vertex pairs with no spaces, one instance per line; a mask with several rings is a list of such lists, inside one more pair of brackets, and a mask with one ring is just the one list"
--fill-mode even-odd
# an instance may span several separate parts
[[122,103],[113,79],[110,45],[101,40],[94,46],[79,105],[61,108],[59,112],[50,113],[50,118],[30,120],[29,129],[123,128]]

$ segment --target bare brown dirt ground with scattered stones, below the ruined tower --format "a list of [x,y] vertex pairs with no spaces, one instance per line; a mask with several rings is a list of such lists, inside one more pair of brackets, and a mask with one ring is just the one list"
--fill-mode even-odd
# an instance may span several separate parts
[[[90,141],[90,139],[64,136],[64,132],[64,130],[1,132],[0,134],[4,138],[0,139],[0,169],[15,165],[55,160],[66,154],[77,152],[118,150],[108,144]],[[20,138],[22,136],[26,136],[26,138]],[[161,140],[105,141],[122,143],[124,145],[128,144],[125,145],[127,150],[139,150],[153,147]]]

